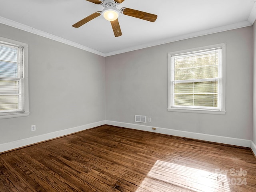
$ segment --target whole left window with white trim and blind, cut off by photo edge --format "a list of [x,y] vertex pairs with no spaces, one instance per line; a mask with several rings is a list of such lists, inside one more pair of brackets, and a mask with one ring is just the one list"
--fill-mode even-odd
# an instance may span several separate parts
[[27,44],[0,38],[0,119],[28,115],[27,50]]

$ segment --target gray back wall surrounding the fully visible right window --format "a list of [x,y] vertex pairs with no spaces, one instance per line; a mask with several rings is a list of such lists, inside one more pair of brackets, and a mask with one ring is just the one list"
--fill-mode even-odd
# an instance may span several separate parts
[[[252,26],[106,57],[106,120],[252,139]],[[168,52],[226,43],[226,115],[167,111]]]

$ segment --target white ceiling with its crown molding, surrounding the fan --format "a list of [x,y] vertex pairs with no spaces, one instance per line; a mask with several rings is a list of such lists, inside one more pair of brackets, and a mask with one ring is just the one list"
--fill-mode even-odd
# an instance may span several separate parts
[[122,36],[114,37],[102,16],[72,24],[102,11],[86,0],[0,0],[0,23],[102,55],[114,55],[244,26],[256,19],[255,0],[125,0],[127,7],[158,15],[156,22],[120,14]]

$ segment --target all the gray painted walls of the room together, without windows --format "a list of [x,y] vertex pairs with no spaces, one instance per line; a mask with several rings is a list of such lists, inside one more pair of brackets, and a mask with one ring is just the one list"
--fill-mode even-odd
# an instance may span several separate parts
[[[141,125],[251,140],[255,28],[104,58],[0,24],[1,37],[28,43],[30,99],[28,117],[0,119],[0,144],[105,119],[135,123],[134,115],[152,118]],[[220,43],[226,43],[226,115],[168,112],[168,52]]]

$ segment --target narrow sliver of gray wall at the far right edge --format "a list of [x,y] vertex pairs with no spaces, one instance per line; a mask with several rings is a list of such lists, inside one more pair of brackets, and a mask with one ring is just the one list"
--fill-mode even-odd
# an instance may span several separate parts
[[254,22],[253,25],[253,45],[254,45],[254,52],[253,52],[253,130],[252,130],[252,141],[256,144],[256,23]]

